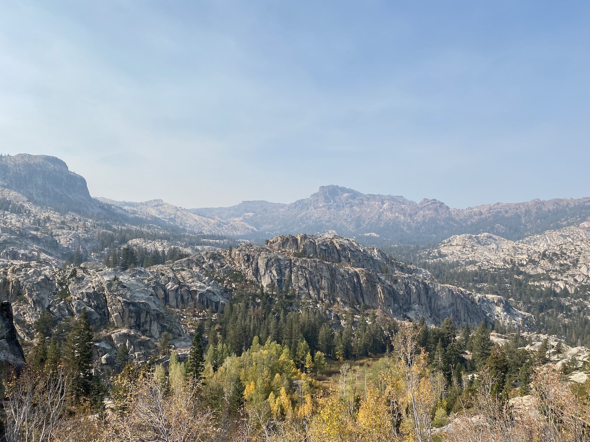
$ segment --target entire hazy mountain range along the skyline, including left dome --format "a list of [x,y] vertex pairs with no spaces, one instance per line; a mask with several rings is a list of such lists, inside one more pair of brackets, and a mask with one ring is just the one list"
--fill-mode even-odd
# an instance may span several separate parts
[[520,240],[579,225],[590,217],[590,197],[453,209],[435,199],[416,203],[402,196],[363,194],[339,186],[322,186],[311,196],[289,204],[244,201],[231,207],[187,210],[162,200],[93,199],[86,180],[68,170],[62,160],[29,154],[0,156],[0,187],[60,213],[83,213],[93,219],[128,217],[163,228],[242,238],[334,230],[343,236],[370,235],[388,242],[422,245],[464,233]]

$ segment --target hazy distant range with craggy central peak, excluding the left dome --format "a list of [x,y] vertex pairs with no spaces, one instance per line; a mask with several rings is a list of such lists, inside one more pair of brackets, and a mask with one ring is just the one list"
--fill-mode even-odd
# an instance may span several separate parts
[[191,212],[242,220],[261,232],[275,235],[336,230],[346,236],[375,233],[402,243],[428,244],[452,235],[483,232],[516,240],[578,224],[590,216],[590,197],[453,209],[434,199],[415,203],[402,196],[322,186],[312,196],[290,204],[243,202]]

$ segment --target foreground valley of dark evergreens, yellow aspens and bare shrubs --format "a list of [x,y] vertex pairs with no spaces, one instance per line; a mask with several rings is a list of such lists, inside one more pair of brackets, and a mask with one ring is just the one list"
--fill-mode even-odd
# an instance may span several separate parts
[[[237,281],[239,275],[234,275]],[[440,327],[375,311],[300,305],[293,291],[241,289],[195,321],[188,351],[167,333],[148,363],[117,350],[93,370],[86,311],[35,324],[27,364],[3,378],[6,440],[585,440],[588,383],[551,364],[563,347],[482,323]],[[528,338],[530,344],[530,337]],[[526,402],[523,401],[526,398]],[[511,405],[509,407],[508,405]],[[516,408],[514,407],[516,405]],[[526,405],[526,406],[525,406]]]

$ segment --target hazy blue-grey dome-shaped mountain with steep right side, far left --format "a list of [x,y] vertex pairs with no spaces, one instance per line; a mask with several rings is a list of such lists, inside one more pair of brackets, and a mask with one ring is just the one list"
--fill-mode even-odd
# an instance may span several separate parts
[[0,156],[0,186],[58,212],[100,210],[90,197],[86,180],[56,157],[24,153]]

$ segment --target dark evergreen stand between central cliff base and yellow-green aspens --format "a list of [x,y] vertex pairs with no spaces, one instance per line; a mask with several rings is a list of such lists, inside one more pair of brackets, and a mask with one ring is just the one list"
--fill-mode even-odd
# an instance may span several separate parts
[[[293,299],[292,290],[278,291],[273,286],[257,293],[238,293],[215,320],[209,315],[205,331],[210,344],[224,342],[240,355],[254,338],[260,342],[270,339],[289,348],[298,368],[304,367],[307,352],[312,357],[319,351],[344,360],[382,353],[391,344],[395,323],[375,312],[360,312],[355,318],[349,309],[345,326],[335,330],[322,310],[300,306]],[[303,351],[301,345],[308,350]]]

